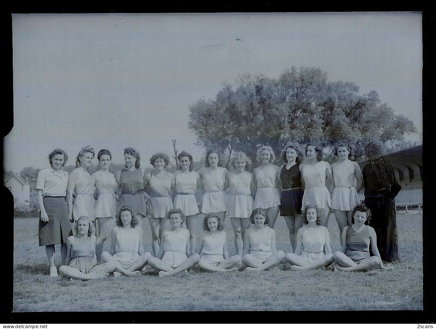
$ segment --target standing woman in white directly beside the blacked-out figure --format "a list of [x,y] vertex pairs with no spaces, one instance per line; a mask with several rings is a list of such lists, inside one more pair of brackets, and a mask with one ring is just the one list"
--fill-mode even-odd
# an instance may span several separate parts
[[[360,203],[358,192],[363,186],[359,165],[350,160],[353,148],[347,142],[341,142],[334,148],[339,160],[331,165],[334,178],[334,191],[331,207],[339,227],[339,236],[345,226],[351,225],[351,212]],[[354,179],[357,187],[354,186]]]

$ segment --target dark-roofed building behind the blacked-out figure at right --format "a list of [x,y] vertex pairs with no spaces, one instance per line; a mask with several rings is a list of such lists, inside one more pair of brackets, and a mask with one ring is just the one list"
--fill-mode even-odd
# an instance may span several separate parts
[[[422,204],[422,145],[383,156],[395,167],[401,182],[401,191],[395,198],[397,206]],[[359,162],[360,169],[368,160]],[[359,193],[363,199],[363,190]]]

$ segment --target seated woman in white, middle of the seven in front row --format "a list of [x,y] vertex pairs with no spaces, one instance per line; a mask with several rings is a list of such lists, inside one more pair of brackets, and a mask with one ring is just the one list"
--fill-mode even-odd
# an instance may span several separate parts
[[203,229],[208,232],[198,245],[197,254],[200,255],[198,267],[208,272],[235,271],[235,266],[241,263],[242,257],[228,256],[224,223],[214,213],[204,216]]

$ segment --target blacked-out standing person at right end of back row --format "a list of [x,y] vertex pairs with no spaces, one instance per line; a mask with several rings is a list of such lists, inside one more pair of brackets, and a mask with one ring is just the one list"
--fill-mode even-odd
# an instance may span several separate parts
[[394,166],[381,156],[380,145],[368,143],[364,150],[369,160],[362,170],[365,206],[371,210],[381,260],[393,262],[398,259],[395,196],[401,183]]

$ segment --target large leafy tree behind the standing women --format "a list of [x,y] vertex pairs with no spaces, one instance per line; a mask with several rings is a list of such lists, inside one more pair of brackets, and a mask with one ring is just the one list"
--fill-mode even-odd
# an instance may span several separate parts
[[328,81],[316,67],[292,67],[278,79],[247,74],[236,86],[225,85],[215,100],[198,100],[190,111],[198,144],[227,156],[241,150],[254,158],[263,144],[278,152],[288,140],[330,148],[347,140],[359,157],[368,141],[401,141],[405,133],[416,132],[374,90],[360,94],[355,83]]

